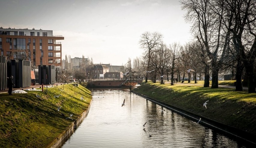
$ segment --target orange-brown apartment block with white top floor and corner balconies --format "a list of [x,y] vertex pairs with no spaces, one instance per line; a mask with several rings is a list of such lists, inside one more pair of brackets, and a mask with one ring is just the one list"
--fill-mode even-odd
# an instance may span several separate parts
[[20,55],[31,61],[32,66],[61,66],[62,35],[53,35],[52,30],[11,29],[0,27],[0,50],[7,59],[20,59]]

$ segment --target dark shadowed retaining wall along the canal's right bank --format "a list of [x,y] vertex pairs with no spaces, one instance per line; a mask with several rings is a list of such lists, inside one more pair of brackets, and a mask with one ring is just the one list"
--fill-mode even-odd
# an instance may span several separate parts
[[250,144],[249,145],[255,145],[256,146],[256,141],[255,141],[255,137],[256,135],[255,134],[252,134],[252,133],[249,133],[247,131],[244,131],[244,130],[240,130],[238,128],[234,128],[234,127],[231,127],[231,126],[228,126],[228,125],[225,125],[225,124],[222,124],[220,122],[217,122],[215,120],[212,120],[212,119],[209,119],[209,118],[206,118],[206,117],[203,117],[203,116],[200,116],[198,114],[195,114],[193,112],[190,112],[190,111],[187,111],[187,110],[184,110],[182,108],[178,108],[178,107],[175,107],[175,106],[172,106],[170,104],[166,104],[164,102],[161,102],[161,101],[158,101],[154,98],[151,98],[151,97],[148,97],[148,96],[145,96],[145,95],[142,95],[142,94],[139,94],[135,91],[132,91],[133,93],[135,93],[136,95],[139,95],[143,98],[146,98],[152,102],[155,102],[163,107],[166,107],[178,114],[180,114],[181,116],[184,116],[186,118],[189,118],[195,122],[198,122],[199,119],[201,118],[199,124],[201,125],[204,125],[208,128],[211,128],[211,129],[215,129],[215,130],[218,130],[219,132],[221,132],[222,134],[226,134],[226,135],[229,135],[235,139],[238,139],[238,140],[242,140],[244,142],[249,142]]

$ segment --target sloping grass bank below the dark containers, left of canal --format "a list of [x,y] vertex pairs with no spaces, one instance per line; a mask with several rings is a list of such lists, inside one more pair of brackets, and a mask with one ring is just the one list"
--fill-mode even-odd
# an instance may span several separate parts
[[[92,99],[88,89],[72,84],[64,85],[64,90],[59,85],[47,88],[47,93],[45,87],[44,92],[27,92],[0,94],[0,147],[46,147],[74,122],[66,119],[69,113],[76,119]],[[58,106],[62,106],[59,111]]]

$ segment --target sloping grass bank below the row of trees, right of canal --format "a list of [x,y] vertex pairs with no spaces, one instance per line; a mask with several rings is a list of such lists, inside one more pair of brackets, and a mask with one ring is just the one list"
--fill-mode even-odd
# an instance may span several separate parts
[[[256,134],[256,94],[234,90],[151,82],[133,89],[166,104]],[[152,95],[152,92],[155,93]],[[203,103],[208,100],[206,109]]]

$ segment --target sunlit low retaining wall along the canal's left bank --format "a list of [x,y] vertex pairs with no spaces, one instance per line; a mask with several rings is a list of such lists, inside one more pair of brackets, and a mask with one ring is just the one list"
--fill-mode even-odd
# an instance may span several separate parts
[[74,133],[75,129],[82,123],[82,121],[84,120],[84,118],[87,116],[91,103],[92,103],[93,99],[91,99],[90,104],[87,108],[87,110],[85,110],[80,117],[78,117],[78,119],[76,119],[74,122],[72,122],[71,125],[69,125],[69,127],[63,131],[58,137],[56,137],[56,139],[54,139],[48,146],[47,148],[59,148],[62,146],[62,144],[64,144],[69,137]]

